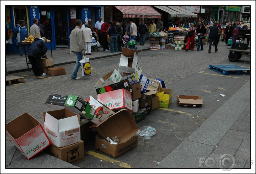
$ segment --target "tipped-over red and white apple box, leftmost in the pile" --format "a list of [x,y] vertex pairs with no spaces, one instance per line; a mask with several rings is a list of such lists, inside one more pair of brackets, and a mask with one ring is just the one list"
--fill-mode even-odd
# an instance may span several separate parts
[[6,124],[5,129],[26,159],[52,144],[41,123],[26,112]]

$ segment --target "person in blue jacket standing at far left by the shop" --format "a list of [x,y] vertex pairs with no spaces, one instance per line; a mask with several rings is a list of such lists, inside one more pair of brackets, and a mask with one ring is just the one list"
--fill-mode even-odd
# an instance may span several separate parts
[[28,30],[26,29],[25,22],[23,20],[21,20],[20,24],[14,29],[13,34],[14,37],[17,37],[20,55],[24,55],[26,50],[24,50],[21,41],[25,40],[25,37],[28,37]]

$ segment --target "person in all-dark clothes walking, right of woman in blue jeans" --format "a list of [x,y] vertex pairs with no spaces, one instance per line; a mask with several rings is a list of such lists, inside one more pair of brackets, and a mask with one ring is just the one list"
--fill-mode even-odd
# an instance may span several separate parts
[[211,28],[209,29],[209,49],[208,49],[208,53],[211,53],[211,47],[212,47],[212,42],[214,43],[214,48],[215,48],[215,52],[218,51],[217,48],[217,39],[219,36],[219,33],[221,33],[221,30],[219,29],[219,27],[217,26],[218,23],[214,22],[213,26],[211,26]]

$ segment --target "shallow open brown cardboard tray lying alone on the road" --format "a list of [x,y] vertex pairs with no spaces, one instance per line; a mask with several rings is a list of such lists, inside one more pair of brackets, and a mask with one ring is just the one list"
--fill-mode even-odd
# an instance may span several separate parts
[[203,99],[201,96],[177,95],[179,106],[202,106]]

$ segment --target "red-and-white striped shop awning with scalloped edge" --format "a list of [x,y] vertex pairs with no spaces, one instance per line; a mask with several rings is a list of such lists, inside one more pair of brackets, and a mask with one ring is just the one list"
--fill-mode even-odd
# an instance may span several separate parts
[[161,14],[147,5],[115,5],[123,13],[123,18],[161,18]]

